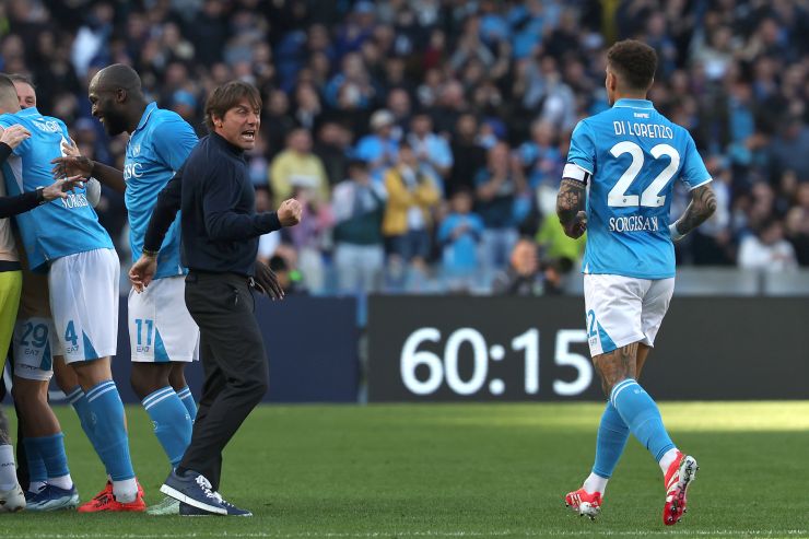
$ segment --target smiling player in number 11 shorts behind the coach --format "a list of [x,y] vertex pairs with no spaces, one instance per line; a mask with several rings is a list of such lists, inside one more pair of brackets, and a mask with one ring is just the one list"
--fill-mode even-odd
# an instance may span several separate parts
[[[108,134],[130,134],[124,171],[68,156],[56,160],[57,174],[92,174],[125,194],[132,260],[138,260],[157,194],[197,145],[197,136],[179,115],[146,102],[140,77],[128,66],[116,63],[98,71],[90,83],[89,97],[93,115]],[[185,364],[198,356],[199,328],[185,304],[187,270],[180,263],[179,219],[177,215],[160,249],[154,283],[142,294],[130,290],[128,319],[132,388],[142,399],[172,467],[180,461],[191,440],[197,412],[184,376]],[[178,513],[179,503],[167,497],[149,511]]]

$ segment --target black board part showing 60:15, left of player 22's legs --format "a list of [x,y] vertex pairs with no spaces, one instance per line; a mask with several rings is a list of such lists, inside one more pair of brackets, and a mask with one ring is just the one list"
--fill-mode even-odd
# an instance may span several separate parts
[[585,321],[571,298],[372,297],[370,400],[601,399]]

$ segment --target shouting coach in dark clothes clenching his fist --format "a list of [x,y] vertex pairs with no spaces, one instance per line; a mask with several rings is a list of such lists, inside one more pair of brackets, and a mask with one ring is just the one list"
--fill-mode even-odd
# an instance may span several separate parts
[[210,134],[161,191],[143,255],[129,278],[138,291],[149,285],[165,233],[181,210],[186,306],[200,329],[206,379],[191,443],[161,491],[181,502],[183,515],[249,516],[216,491],[222,449],[267,392],[267,358],[251,289],[283,295],[269,269],[257,267],[258,237],[297,224],[302,208],[290,199],[278,212],[256,213],[244,157],[260,124],[261,97],[255,86],[233,81],[216,87],[204,114]]

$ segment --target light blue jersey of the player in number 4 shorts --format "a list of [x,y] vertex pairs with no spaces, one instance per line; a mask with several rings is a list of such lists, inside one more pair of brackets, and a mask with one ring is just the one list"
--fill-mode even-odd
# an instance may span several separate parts
[[[62,120],[43,116],[35,107],[0,116],[3,128],[15,124],[25,127],[31,137],[3,164],[9,195],[52,184],[50,161],[63,155],[61,143],[69,139]],[[47,262],[68,255],[114,248],[109,234],[87,202],[84,188],[74,189],[67,199],[51,200],[20,214],[16,222],[32,270],[43,270]]]

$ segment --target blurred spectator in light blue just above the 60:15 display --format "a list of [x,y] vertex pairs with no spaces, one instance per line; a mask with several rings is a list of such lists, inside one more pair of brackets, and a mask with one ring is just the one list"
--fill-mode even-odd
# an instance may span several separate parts
[[442,269],[452,290],[469,289],[480,268],[478,246],[483,221],[472,213],[472,191],[459,188],[449,200],[449,213],[436,235],[442,248]]

